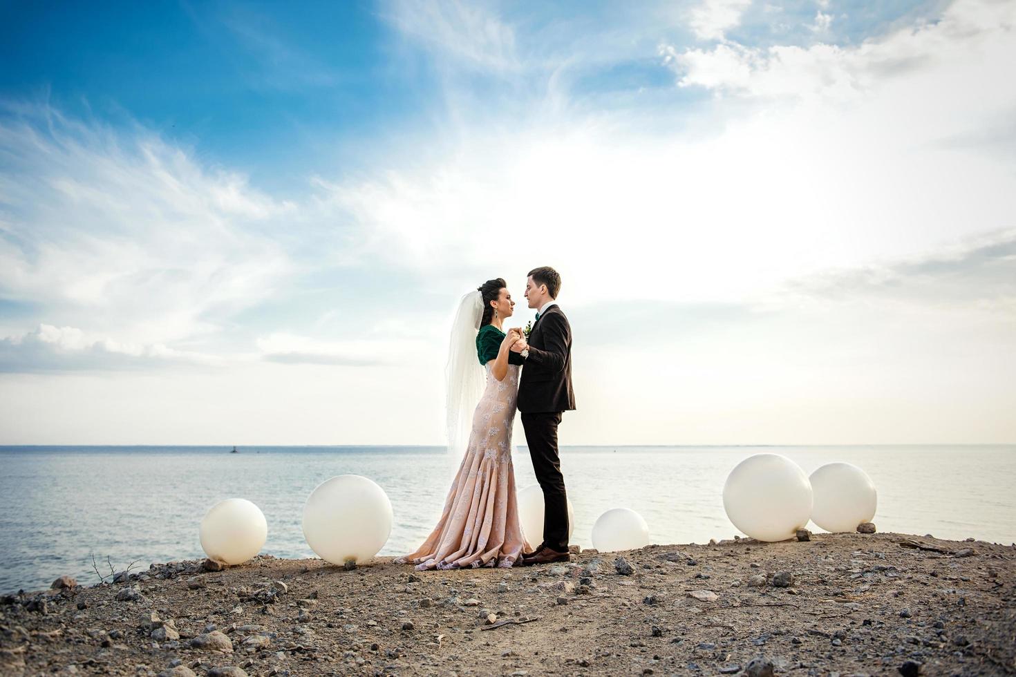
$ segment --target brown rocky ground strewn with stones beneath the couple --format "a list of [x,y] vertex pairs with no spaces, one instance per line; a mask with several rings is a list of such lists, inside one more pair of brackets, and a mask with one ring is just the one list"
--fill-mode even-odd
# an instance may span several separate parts
[[620,554],[421,572],[259,556],[64,580],[2,599],[0,673],[1016,672],[1011,546],[823,534]]

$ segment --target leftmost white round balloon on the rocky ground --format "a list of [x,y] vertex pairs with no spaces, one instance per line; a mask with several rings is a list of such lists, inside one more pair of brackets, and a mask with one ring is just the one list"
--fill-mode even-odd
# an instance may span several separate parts
[[261,509],[246,498],[227,498],[205,513],[199,533],[208,559],[242,564],[264,547],[268,523]]

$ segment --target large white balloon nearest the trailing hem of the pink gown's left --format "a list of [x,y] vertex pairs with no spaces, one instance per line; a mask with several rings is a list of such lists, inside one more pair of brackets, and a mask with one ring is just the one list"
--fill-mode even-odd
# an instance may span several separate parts
[[360,475],[339,475],[319,484],[304,505],[304,538],[332,564],[364,562],[391,534],[391,501],[380,486]]

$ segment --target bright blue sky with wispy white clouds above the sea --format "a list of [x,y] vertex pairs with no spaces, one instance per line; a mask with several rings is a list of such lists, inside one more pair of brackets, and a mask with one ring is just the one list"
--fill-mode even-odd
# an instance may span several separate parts
[[[0,445],[1016,443],[1016,0],[0,2]],[[517,425],[517,444],[522,444]]]

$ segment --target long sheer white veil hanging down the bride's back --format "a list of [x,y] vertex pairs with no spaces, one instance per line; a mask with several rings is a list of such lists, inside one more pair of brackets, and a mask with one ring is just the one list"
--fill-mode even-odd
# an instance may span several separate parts
[[462,296],[451,326],[448,363],[445,365],[447,398],[448,464],[454,475],[465,454],[472,428],[472,414],[484,394],[487,373],[477,357],[477,332],[484,316],[484,294]]

